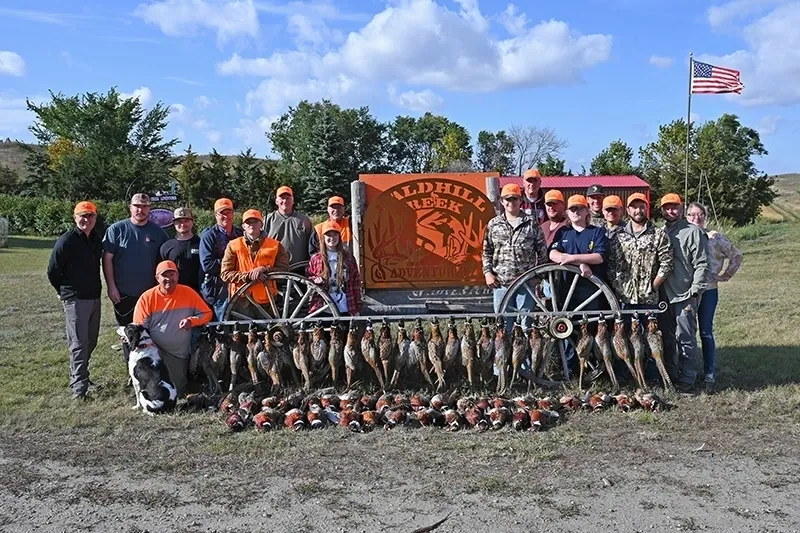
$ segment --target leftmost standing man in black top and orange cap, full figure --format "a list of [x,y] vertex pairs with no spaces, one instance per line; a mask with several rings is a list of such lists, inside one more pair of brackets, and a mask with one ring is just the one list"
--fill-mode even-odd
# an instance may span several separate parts
[[56,241],[47,265],[47,279],[64,305],[69,347],[69,386],[73,400],[86,399],[89,389],[89,358],[100,331],[101,237],[94,231],[97,208],[78,202],[72,218],[75,227]]

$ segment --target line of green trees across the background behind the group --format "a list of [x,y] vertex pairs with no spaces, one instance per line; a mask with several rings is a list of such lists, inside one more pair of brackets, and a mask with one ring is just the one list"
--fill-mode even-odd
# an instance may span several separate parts
[[[555,130],[512,125],[507,130],[469,131],[447,117],[425,113],[377,120],[368,107],[342,108],[329,100],[306,100],[290,107],[265,134],[275,159],[250,149],[229,157],[212,150],[200,156],[179,141],[165,139],[169,108],[146,110],[112,88],[105,94],[50,93],[50,101],[28,101],[35,115],[30,131],[37,145],[25,146],[25,171],[0,166],[0,193],[77,200],[120,200],[134,191],[158,191],[176,183],[181,201],[206,207],[228,196],[240,206],[271,208],[275,189],[295,189],[301,209],[324,211],[329,196],[349,195],[362,173],[496,171],[520,175],[537,167],[544,176],[573,175],[561,159],[568,146]],[[686,122],[659,128],[658,138],[638,149],[612,141],[580,175],[635,174],[653,188],[683,192]],[[745,224],[775,197],[773,181],[756,168],[767,155],[759,134],[725,114],[692,125],[689,197],[697,196],[698,177],[708,180],[718,213]],[[707,198],[706,187],[701,197]]]

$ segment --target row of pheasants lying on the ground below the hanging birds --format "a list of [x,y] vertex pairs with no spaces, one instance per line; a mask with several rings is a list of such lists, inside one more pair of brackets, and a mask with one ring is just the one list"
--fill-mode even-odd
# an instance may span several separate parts
[[[190,395],[187,404],[208,408],[205,393]],[[212,406],[216,407],[216,404]],[[655,394],[638,389],[633,395],[587,392],[583,398],[566,394],[561,398],[519,396],[466,396],[458,393],[436,394],[387,393],[381,396],[356,392],[336,394],[332,388],[309,395],[294,392],[286,396],[258,397],[255,393],[228,393],[219,402],[219,411],[231,431],[254,427],[257,431],[287,428],[321,429],[339,426],[355,432],[375,428],[441,427],[448,431],[462,429],[542,431],[562,423],[571,412],[636,408],[660,411],[666,404]]]

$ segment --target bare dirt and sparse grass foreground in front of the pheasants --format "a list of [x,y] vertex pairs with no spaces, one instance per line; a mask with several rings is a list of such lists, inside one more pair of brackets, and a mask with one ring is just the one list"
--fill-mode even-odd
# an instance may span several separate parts
[[0,429],[0,531],[800,530],[796,419],[707,400],[542,434]]

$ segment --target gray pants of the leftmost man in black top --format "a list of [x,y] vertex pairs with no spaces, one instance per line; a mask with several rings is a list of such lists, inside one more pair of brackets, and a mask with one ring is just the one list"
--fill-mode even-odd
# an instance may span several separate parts
[[89,357],[97,346],[100,331],[100,299],[70,299],[63,302],[69,343],[69,386],[73,393],[89,388]]

